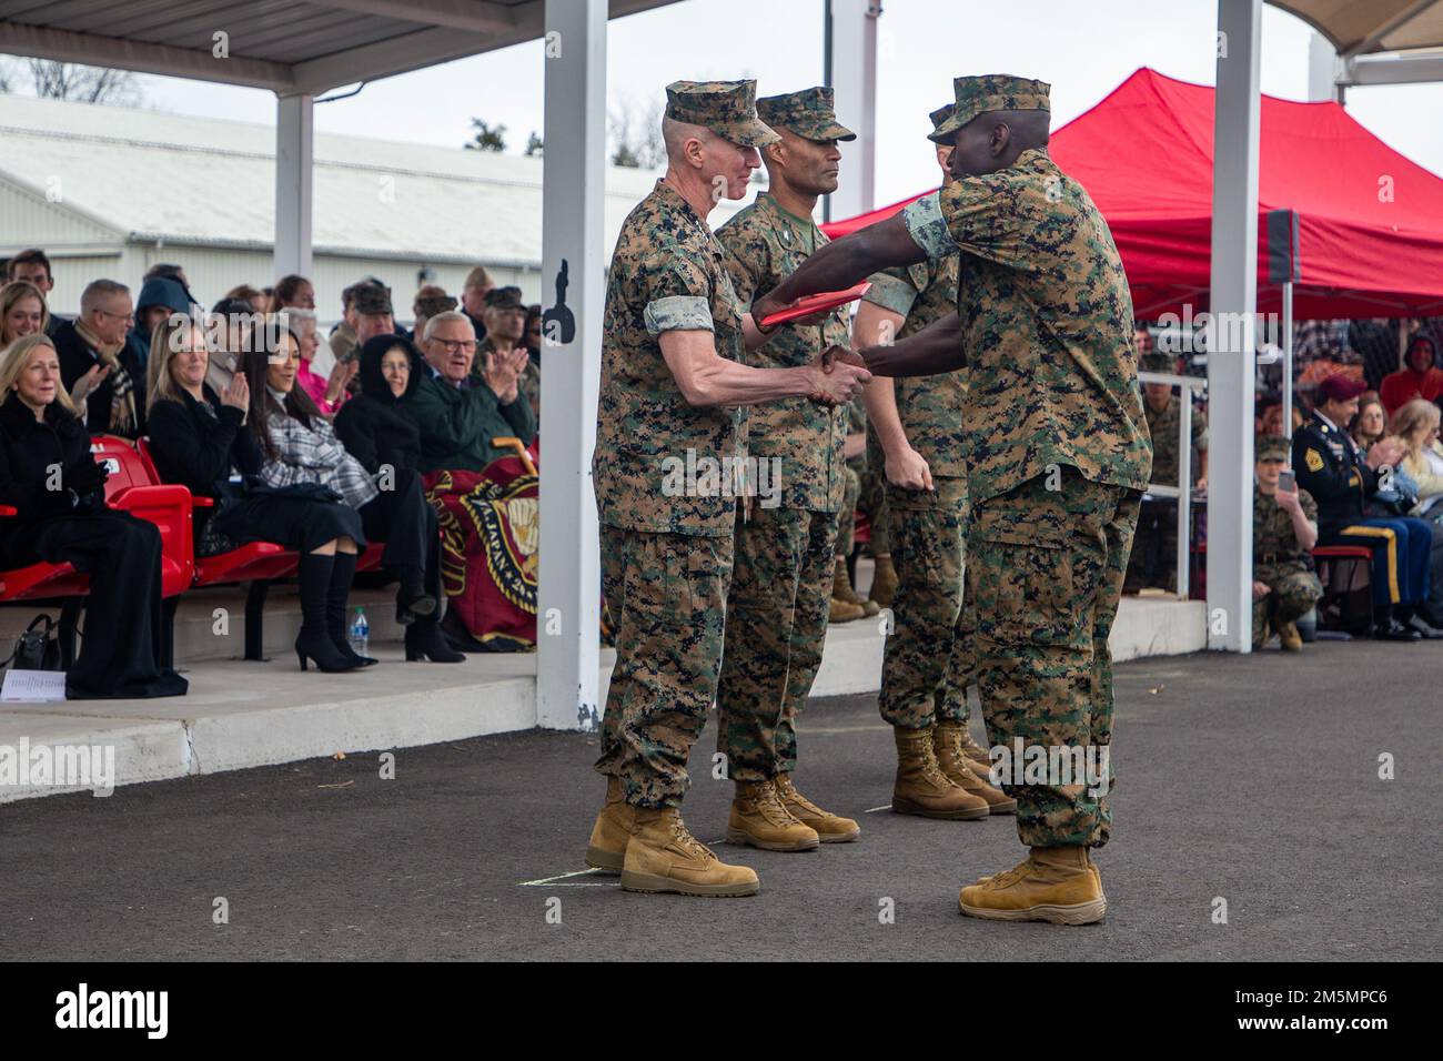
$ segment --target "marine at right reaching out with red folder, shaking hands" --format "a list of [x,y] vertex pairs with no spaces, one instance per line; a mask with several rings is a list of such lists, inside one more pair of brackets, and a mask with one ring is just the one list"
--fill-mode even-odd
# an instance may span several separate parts
[[[987,75],[954,88],[932,140],[952,144],[955,179],[837,240],[755,307],[961,254],[957,316],[863,357],[885,375],[967,365],[967,595],[990,743],[1078,749],[1100,765],[1113,735],[1107,639],[1152,472],[1127,276],[1101,212],[1048,154],[1048,85]],[[964,888],[961,912],[1100,920],[1087,849],[1111,830],[1102,787],[1049,777],[1006,791],[1030,852]]]

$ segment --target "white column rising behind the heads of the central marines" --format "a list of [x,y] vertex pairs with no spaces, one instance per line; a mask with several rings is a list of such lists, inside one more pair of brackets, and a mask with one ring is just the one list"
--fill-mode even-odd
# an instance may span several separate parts
[[841,182],[823,217],[841,221],[873,209],[877,172],[877,19],[882,0],[825,0],[827,84],[837,120],[857,134],[841,144]]

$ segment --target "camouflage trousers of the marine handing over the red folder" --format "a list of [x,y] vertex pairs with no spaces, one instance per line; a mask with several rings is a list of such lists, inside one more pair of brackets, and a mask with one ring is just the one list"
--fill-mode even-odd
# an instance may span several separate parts
[[[1045,748],[1049,764],[1091,754],[1101,767],[1088,748],[1113,741],[1107,638],[1140,497],[1063,468],[1056,481],[1040,475],[973,507],[967,595],[977,608],[977,687],[993,749],[1013,752],[1020,739],[1025,749]],[[1066,749],[1078,749],[1075,758]],[[1023,780],[1022,764],[1013,777]],[[1101,784],[1076,774],[1063,784],[1051,771],[1025,780],[1003,785],[1017,800],[1025,844],[1107,843],[1113,814]]]

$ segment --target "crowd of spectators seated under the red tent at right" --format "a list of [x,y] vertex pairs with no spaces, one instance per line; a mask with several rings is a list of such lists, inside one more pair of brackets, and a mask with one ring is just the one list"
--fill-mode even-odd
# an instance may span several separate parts
[[[1260,383],[1254,420],[1255,644],[1276,634],[1284,650],[1302,647],[1296,622],[1323,593],[1310,553],[1330,546],[1364,547],[1372,557],[1368,585],[1374,637],[1443,638],[1443,445],[1437,432],[1443,365],[1437,322],[1405,323],[1411,335],[1400,346],[1397,320],[1300,322],[1294,333],[1290,430],[1284,430],[1278,390]],[[1144,351],[1143,370],[1170,370],[1170,361],[1162,362],[1144,329],[1139,332],[1139,349]],[[1177,423],[1154,422],[1152,416],[1165,407],[1170,388],[1152,384],[1146,390],[1153,446],[1165,455],[1165,472],[1173,476],[1159,479],[1154,471],[1153,481],[1170,484],[1176,479],[1176,471],[1167,469],[1176,468]],[[1205,447],[1198,445],[1203,411],[1205,406],[1193,417],[1195,469],[1205,468],[1206,459]],[[1280,485],[1287,465],[1296,475],[1291,491]],[[1157,531],[1169,533],[1170,527],[1159,524]],[[1140,528],[1139,540],[1143,537]],[[1172,538],[1165,544],[1172,546]],[[1170,573],[1172,549],[1139,554],[1136,543],[1134,567],[1153,554],[1156,567]]]

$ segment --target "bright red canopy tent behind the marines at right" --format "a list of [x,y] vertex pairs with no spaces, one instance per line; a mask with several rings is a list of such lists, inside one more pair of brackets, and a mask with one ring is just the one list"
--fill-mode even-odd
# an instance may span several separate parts
[[[1052,157],[1113,230],[1141,318],[1206,309],[1212,117],[1211,88],[1143,68],[1052,134]],[[1260,156],[1258,312],[1278,312],[1291,267],[1296,318],[1443,313],[1443,179],[1336,102],[1264,95]],[[850,232],[908,202],[823,228]]]

